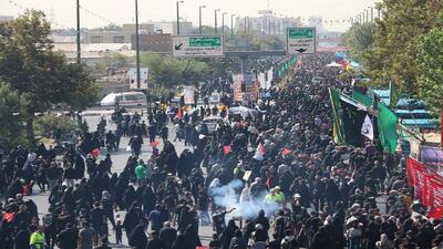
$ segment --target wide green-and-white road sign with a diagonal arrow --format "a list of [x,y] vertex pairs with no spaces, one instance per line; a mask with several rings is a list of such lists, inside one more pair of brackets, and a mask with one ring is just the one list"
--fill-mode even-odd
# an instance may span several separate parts
[[223,37],[173,37],[175,58],[220,58],[225,55]]

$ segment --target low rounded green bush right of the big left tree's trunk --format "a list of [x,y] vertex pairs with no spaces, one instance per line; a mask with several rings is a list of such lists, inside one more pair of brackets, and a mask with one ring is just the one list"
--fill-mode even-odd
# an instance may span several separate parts
[[63,135],[78,128],[71,118],[53,113],[35,118],[35,135],[47,138],[62,138]]

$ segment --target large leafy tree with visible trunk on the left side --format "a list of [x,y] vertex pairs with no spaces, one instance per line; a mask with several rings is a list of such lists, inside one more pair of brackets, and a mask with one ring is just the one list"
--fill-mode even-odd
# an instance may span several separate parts
[[44,13],[27,10],[0,24],[0,80],[27,98],[27,138],[34,144],[35,112],[56,104],[81,110],[94,103],[97,92],[81,64],[69,64],[53,50],[50,23]]

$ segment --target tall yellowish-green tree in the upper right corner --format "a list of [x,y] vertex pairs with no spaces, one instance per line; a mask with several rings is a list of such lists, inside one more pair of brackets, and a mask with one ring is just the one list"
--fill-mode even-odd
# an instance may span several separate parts
[[363,68],[379,85],[395,82],[404,93],[418,93],[419,37],[435,24],[441,0],[383,0],[377,20],[375,45],[362,55]]

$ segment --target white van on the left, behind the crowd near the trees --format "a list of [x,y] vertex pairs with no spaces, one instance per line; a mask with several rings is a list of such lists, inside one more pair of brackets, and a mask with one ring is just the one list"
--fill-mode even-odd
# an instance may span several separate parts
[[146,106],[146,95],[141,92],[110,93],[100,102],[101,106]]

